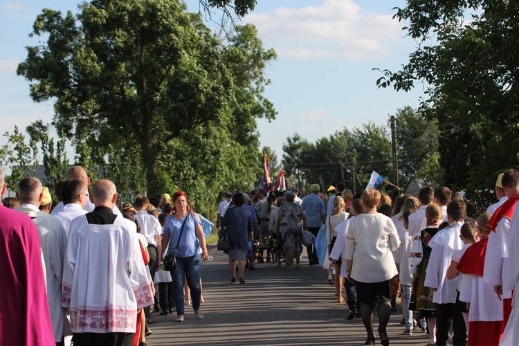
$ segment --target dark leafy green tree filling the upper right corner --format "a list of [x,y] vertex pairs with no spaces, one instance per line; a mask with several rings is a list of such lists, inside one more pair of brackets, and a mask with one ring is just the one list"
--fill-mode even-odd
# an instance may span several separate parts
[[426,84],[421,111],[438,120],[444,179],[469,198],[517,165],[518,12],[517,1],[409,0],[395,17],[419,46],[400,71],[384,70],[377,81],[403,91]]

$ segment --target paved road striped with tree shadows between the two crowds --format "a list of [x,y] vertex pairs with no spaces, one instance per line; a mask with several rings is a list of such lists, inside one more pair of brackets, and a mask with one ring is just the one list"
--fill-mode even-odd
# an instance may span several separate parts
[[[147,345],[363,345],[361,318],[345,319],[347,305],[336,302],[326,271],[309,266],[306,255],[299,271],[257,264],[257,271],[246,271],[246,284],[230,284],[227,256],[215,248],[210,255],[215,260],[202,270],[205,318],[195,319],[191,307],[184,322],[156,313]],[[402,336],[399,320],[400,310],[388,325],[391,345],[427,343],[419,331]]]

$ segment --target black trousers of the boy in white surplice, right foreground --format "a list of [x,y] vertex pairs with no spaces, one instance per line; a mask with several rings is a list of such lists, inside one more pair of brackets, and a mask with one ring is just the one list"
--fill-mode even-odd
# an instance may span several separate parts
[[436,331],[436,345],[447,345],[450,324],[453,324],[453,345],[466,345],[466,325],[462,312],[456,308],[455,303],[437,304],[438,320]]

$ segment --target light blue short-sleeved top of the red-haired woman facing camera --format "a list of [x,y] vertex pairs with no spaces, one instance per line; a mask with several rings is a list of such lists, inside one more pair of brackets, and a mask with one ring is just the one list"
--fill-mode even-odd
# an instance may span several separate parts
[[[182,232],[182,237],[179,242],[180,230],[185,219],[185,226]],[[201,222],[194,217],[192,212],[188,213],[182,219],[175,219],[172,215],[167,217],[164,226],[164,234],[170,235],[170,245],[167,251],[173,254],[176,248],[176,243],[179,242],[179,251],[176,253],[179,257],[191,257],[199,253],[200,244],[198,242],[195,227],[201,225]]]

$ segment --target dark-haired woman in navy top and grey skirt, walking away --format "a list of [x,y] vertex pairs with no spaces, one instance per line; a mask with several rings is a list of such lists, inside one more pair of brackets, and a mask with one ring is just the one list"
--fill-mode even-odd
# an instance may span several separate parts
[[230,249],[227,253],[231,275],[230,282],[236,283],[236,261],[238,261],[239,283],[244,284],[245,256],[248,241],[249,239],[253,240],[254,226],[251,212],[244,208],[244,194],[235,193],[231,199],[234,206],[226,211],[221,226],[227,226],[226,234],[230,243]]

